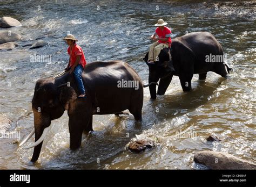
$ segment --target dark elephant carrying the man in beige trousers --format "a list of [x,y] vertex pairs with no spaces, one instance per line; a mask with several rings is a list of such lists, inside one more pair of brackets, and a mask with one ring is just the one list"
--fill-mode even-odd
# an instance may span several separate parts
[[[232,70],[224,63],[221,45],[209,32],[192,32],[173,39],[170,51],[169,48],[164,48],[158,56],[158,61],[154,64],[147,63],[148,55],[149,53],[143,60],[149,66],[151,99],[165,94],[173,75],[179,76],[183,91],[190,91],[193,74],[199,74],[199,80],[205,80],[207,72],[213,71],[227,78],[227,74]],[[215,60],[211,57],[214,57]],[[218,62],[216,62],[217,57]],[[207,62],[207,58],[208,60],[211,58],[212,62]],[[159,79],[156,92],[156,84]]]

